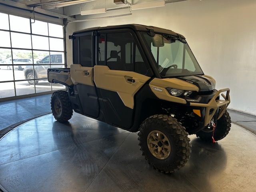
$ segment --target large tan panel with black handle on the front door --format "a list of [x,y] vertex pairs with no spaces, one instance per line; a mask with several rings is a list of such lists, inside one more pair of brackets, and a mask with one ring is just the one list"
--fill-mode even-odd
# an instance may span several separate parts
[[[134,79],[129,82],[127,79]],[[94,82],[97,88],[117,92],[126,107],[134,108],[134,95],[150,77],[122,70],[110,70],[108,66],[94,66]]]

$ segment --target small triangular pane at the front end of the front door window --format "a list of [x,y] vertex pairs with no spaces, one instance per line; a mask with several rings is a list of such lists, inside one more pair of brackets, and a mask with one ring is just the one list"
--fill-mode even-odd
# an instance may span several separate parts
[[153,75],[150,66],[144,62],[137,45],[135,48],[135,72],[150,77]]

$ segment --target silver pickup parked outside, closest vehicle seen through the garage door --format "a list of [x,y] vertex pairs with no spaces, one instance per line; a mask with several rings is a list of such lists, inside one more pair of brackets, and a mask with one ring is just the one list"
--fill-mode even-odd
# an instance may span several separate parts
[[[34,74],[33,66],[26,66],[24,69],[24,77],[28,80],[30,85],[34,84],[34,75],[35,78],[47,78],[47,70],[50,68],[50,63],[52,64],[63,64],[64,58],[62,54],[51,54],[47,55],[42,60],[36,62],[34,65]],[[59,66],[52,66],[58,68]],[[38,84],[38,80],[35,80],[35,84]]]

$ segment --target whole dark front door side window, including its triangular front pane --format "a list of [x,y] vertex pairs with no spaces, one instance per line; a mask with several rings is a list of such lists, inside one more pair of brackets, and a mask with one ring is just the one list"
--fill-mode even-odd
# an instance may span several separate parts
[[112,70],[135,71],[146,76],[153,75],[130,32],[101,34],[98,38],[98,64],[106,64]]

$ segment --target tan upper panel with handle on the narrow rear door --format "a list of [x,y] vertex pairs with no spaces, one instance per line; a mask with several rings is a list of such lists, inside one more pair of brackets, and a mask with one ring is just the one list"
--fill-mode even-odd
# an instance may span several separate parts
[[74,85],[84,84],[94,86],[93,67],[84,67],[80,64],[72,64],[70,66],[70,75]]

